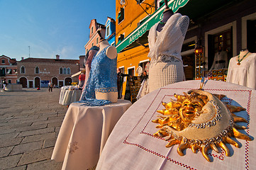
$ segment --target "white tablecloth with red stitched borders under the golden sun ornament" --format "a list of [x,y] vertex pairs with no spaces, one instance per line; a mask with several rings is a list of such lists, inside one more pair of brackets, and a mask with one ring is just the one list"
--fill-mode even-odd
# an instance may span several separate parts
[[[183,92],[199,89],[200,82],[169,84],[133,103],[108,137],[96,169],[256,169],[255,139],[249,142],[237,139],[242,145],[240,148],[227,145],[231,157],[226,157],[220,148],[219,154],[209,149],[208,155],[212,162],[207,162],[200,151],[194,154],[191,149],[186,149],[185,155],[181,157],[177,153],[178,145],[165,147],[168,141],[153,136],[159,129],[151,121],[157,119],[159,113],[156,111],[164,108],[161,102],[169,102],[170,98],[175,100],[174,94],[183,95]],[[256,137],[255,90],[213,80],[206,81],[204,89],[213,94],[225,94],[223,101],[246,108],[247,111],[235,113],[250,123],[247,130],[239,131]]]

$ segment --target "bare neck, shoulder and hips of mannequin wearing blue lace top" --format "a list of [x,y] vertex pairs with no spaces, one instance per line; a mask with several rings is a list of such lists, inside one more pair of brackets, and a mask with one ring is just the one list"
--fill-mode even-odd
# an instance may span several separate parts
[[[101,33],[99,30],[98,30],[98,33],[101,37]],[[115,59],[117,57],[116,47],[109,45],[108,41],[101,37],[100,41],[99,41],[99,52],[98,53],[100,53],[106,47],[107,47],[106,56],[108,58],[110,58],[111,60]],[[104,99],[104,100],[111,101],[111,103],[116,103],[118,100],[118,91],[110,91],[110,92],[106,92],[106,93],[95,91],[95,97],[97,99]]]

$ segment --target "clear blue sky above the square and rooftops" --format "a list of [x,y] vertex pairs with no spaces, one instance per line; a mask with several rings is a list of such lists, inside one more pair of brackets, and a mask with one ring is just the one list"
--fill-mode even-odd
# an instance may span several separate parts
[[115,0],[0,0],[0,55],[78,60],[89,23],[115,19]]

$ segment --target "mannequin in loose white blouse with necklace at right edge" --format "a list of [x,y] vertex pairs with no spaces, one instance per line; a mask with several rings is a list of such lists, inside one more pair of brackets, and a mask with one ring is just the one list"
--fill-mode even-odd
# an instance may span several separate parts
[[256,53],[241,50],[228,65],[227,82],[256,89]]

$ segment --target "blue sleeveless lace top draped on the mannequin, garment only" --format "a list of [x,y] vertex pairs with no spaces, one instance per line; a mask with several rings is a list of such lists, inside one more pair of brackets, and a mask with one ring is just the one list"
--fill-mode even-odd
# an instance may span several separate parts
[[111,103],[111,101],[96,99],[95,91],[101,93],[117,92],[117,58],[110,59],[106,56],[106,49],[108,47],[105,47],[99,54],[96,54],[91,62],[87,86],[81,100],[78,101],[79,103],[84,103],[84,106],[102,106]]

